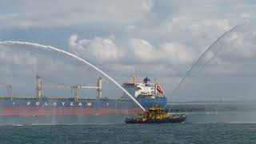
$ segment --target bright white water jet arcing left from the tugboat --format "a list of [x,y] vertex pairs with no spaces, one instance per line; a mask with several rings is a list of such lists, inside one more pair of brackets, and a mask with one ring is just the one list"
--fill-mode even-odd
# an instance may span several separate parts
[[77,55],[74,55],[74,54],[71,54],[69,52],[66,52],[65,50],[60,50],[58,48],[55,48],[53,46],[44,46],[44,45],[41,45],[41,44],[38,44],[38,43],[31,43],[31,42],[14,42],[14,41],[4,41],[4,42],[0,42],[0,45],[27,45],[27,46],[37,46],[37,47],[42,47],[44,49],[50,49],[50,50],[55,50],[55,51],[58,51],[62,54],[67,54],[73,58],[76,58],[78,59],[79,61],[81,62],[84,62],[86,63],[88,66],[91,66],[92,68],[94,68],[95,70],[98,70],[98,72],[100,72],[101,74],[103,74],[106,78],[108,78],[111,82],[114,82],[114,84],[116,86],[118,86],[121,90],[123,90],[140,108],[142,108],[142,110],[146,111],[144,109],[144,107],[138,102],[136,101],[136,99],[131,96],[128,91],[126,89],[124,89],[120,84],[118,84],[118,82],[116,82],[113,78],[111,78],[108,74],[104,73],[102,70],[100,70],[98,67],[94,66],[93,64],[90,64],[90,62],[87,62],[86,60],[78,57]]

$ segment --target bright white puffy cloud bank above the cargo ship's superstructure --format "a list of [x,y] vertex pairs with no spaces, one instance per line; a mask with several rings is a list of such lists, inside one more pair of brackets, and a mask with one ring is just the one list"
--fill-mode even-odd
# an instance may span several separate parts
[[114,37],[78,39],[71,35],[70,51],[78,56],[99,64],[112,62],[122,65],[188,64],[194,59],[194,51],[181,43],[164,43],[153,46],[145,39],[130,38],[127,42],[116,43]]

